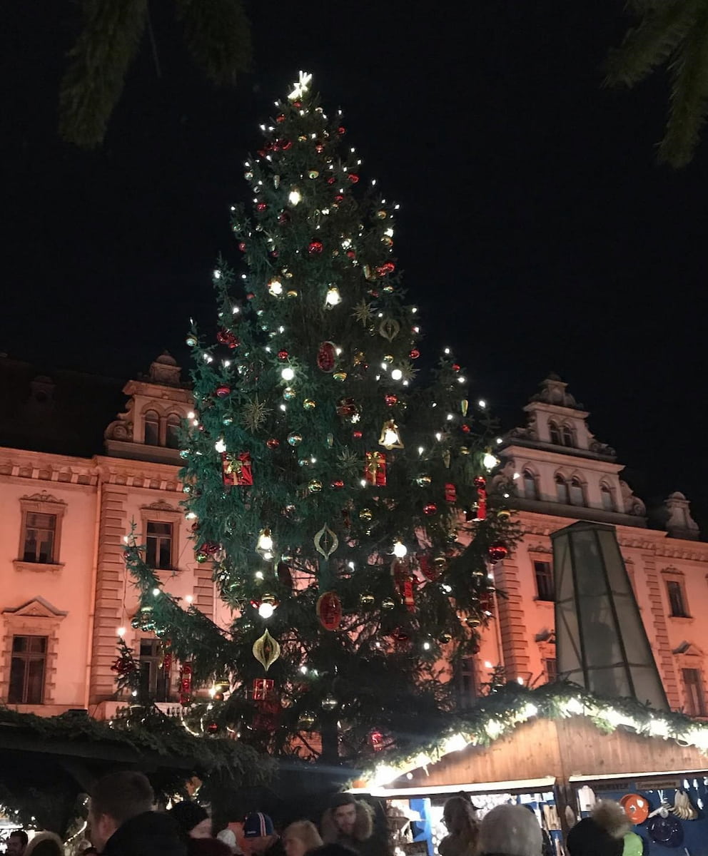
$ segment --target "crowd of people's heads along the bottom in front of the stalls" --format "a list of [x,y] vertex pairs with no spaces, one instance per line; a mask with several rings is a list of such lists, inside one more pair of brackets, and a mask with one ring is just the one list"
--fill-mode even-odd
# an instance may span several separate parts
[[[377,835],[372,806],[352,794],[336,794],[318,827],[290,823],[282,833],[271,817],[253,811],[237,839],[227,826],[214,834],[202,805],[185,800],[169,811],[154,811],[152,786],[142,773],[123,770],[98,780],[91,795],[87,841],[81,856],[392,856],[387,835]],[[497,805],[481,821],[464,795],[444,805],[448,834],[439,856],[556,856],[548,833],[525,805]],[[622,856],[631,824],[616,803],[598,803],[590,817],[570,830],[568,856]],[[8,856],[63,856],[61,839],[15,829]]]

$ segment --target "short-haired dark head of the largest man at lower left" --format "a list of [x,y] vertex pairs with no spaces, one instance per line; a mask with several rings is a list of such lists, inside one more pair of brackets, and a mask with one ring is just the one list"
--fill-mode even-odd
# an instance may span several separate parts
[[121,770],[101,776],[93,786],[88,822],[91,841],[103,850],[110,836],[131,817],[152,810],[155,794],[147,776],[134,770]]

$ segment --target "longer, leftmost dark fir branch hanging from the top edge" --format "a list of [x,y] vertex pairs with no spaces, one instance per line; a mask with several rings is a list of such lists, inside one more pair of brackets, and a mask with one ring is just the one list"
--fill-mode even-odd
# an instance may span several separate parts
[[59,133],[99,146],[146,27],[146,0],[84,0],[84,28],[59,91]]

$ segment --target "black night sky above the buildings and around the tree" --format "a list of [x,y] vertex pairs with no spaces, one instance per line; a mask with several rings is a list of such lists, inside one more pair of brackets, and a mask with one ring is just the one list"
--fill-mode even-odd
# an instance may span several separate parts
[[116,377],[163,348],[187,366],[214,259],[239,255],[241,163],[306,68],[402,204],[396,254],[428,348],[455,346],[506,427],[560,373],[640,496],[684,490],[708,530],[708,141],[688,169],[657,167],[663,74],[601,88],[619,0],[250,2],[253,74],[230,92],[183,55],[171,5],[152,3],[162,79],[144,45],[90,154],[56,133],[74,6],[5,10],[0,350]]

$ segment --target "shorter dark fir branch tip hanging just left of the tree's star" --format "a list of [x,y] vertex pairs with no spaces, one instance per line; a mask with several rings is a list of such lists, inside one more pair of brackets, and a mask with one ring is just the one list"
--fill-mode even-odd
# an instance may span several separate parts
[[187,49],[206,76],[233,86],[251,65],[251,25],[241,0],[176,0]]

